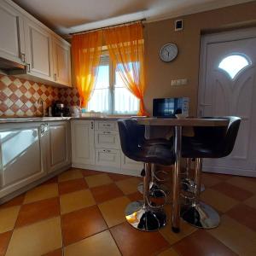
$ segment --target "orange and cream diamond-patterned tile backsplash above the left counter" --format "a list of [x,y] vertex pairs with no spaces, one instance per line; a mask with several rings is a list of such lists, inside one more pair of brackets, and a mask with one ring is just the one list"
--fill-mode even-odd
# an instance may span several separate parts
[[0,116],[35,116],[42,114],[38,99],[47,107],[60,99],[60,89],[25,79],[0,74]]

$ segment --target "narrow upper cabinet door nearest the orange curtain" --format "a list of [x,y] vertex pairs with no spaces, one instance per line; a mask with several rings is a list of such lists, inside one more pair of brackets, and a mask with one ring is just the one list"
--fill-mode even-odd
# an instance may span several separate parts
[[70,45],[53,39],[54,79],[58,84],[71,86]]

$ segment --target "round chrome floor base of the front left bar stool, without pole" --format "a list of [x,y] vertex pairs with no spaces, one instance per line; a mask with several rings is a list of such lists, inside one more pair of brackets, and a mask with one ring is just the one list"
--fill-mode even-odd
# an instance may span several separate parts
[[166,225],[166,213],[144,207],[143,201],[133,201],[125,209],[125,218],[137,230],[156,231]]

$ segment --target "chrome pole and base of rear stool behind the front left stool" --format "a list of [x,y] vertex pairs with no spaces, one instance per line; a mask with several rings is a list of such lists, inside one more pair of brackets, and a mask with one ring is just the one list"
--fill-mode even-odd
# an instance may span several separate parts
[[[155,172],[155,165],[151,164],[151,181],[149,183],[149,195],[154,198],[163,198],[165,197],[165,195],[168,195],[170,191],[166,188],[165,185],[156,183],[154,181],[154,177],[155,177],[154,172]],[[143,194],[143,183],[138,184],[137,190],[141,194]]]

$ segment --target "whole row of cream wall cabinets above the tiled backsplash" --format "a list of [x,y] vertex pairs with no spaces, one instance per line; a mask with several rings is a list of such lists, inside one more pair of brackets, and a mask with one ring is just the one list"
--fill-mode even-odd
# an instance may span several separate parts
[[11,0],[0,0],[0,58],[26,65],[9,74],[71,86],[70,44]]

